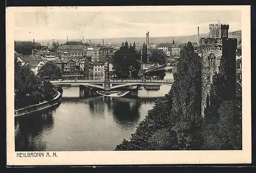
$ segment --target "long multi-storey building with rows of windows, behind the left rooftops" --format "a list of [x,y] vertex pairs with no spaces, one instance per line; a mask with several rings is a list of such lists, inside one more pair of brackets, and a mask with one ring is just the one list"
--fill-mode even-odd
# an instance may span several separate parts
[[87,52],[84,45],[62,45],[57,49],[57,56],[61,60],[69,60],[71,57],[81,57]]

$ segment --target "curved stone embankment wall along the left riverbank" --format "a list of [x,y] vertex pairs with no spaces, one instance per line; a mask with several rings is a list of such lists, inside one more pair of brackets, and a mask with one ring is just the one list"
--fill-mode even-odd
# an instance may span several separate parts
[[38,104],[34,104],[34,105],[27,106],[27,107],[23,107],[21,109],[14,110],[14,117],[20,117],[20,116],[24,116],[27,114],[39,112],[42,110],[49,109],[50,107],[53,107],[55,105],[58,105],[61,101],[62,93],[60,93],[57,90],[56,90],[56,92],[57,92],[56,96],[49,101],[44,101],[44,102],[41,102]]

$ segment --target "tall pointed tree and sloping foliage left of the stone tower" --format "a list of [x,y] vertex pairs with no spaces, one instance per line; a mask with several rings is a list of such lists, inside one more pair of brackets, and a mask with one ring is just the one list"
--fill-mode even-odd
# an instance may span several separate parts
[[156,100],[130,141],[124,140],[116,150],[201,148],[200,62],[191,42],[188,42],[182,49],[172,89]]

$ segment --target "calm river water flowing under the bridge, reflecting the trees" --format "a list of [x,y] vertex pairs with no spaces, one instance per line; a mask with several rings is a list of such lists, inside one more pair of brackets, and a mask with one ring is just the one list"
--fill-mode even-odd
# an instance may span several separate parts
[[[176,69],[163,72],[172,79]],[[129,140],[136,127],[171,86],[158,91],[138,91],[138,98],[104,97],[80,99],[79,87],[63,88],[58,107],[15,119],[16,151],[114,150],[123,139]]]

